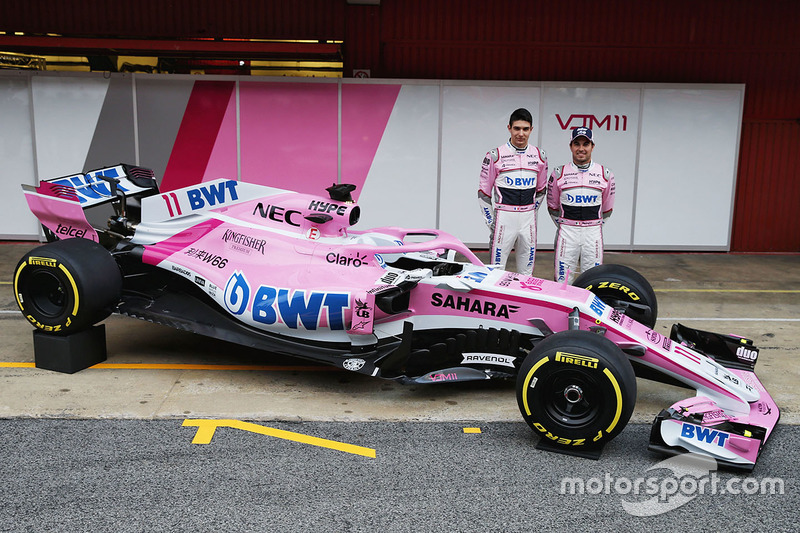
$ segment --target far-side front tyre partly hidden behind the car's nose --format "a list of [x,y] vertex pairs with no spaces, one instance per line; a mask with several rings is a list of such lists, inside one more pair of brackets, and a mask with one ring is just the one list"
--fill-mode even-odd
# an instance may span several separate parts
[[644,276],[625,265],[604,264],[590,268],[573,282],[588,289],[603,302],[650,328],[656,325],[658,302]]

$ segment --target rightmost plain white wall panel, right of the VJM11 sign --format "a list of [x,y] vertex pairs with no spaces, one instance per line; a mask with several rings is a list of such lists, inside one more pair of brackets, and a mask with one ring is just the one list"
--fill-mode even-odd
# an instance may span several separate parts
[[645,90],[634,245],[730,248],[743,96]]

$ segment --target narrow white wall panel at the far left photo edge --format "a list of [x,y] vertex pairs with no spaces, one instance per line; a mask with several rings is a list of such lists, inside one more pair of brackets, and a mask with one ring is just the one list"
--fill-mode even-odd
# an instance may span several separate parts
[[34,185],[29,78],[0,78],[0,238],[37,239],[21,184]]

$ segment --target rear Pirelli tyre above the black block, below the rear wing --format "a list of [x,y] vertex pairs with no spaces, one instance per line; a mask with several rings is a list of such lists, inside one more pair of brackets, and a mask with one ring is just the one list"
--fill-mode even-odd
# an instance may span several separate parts
[[94,241],[67,239],[34,248],[14,271],[14,294],[25,318],[55,335],[77,333],[111,314],[122,274]]

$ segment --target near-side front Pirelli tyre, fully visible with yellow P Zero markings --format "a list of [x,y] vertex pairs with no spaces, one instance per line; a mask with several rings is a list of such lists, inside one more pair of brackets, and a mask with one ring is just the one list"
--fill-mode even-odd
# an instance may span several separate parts
[[616,344],[589,331],[555,333],[520,367],[522,417],[550,444],[597,448],[628,423],[636,404],[633,367]]

